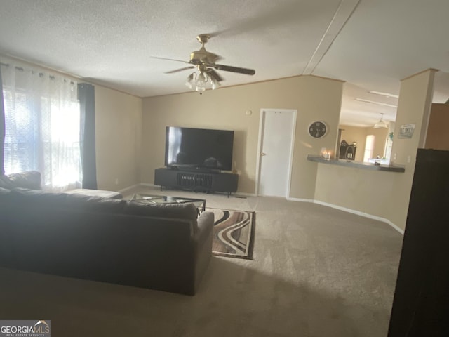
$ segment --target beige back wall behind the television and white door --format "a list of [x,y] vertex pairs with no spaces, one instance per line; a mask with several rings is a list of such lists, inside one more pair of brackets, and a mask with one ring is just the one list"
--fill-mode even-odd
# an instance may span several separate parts
[[[142,183],[154,183],[154,169],[164,165],[166,126],[223,128],[235,131],[234,163],[239,173],[239,192],[255,193],[257,143],[262,108],[295,109],[297,124],[293,153],[290,197],[314,197],[316,166],[307,154],[319,154],[321,147],[335,148],[340,119],[342,81],[300,76],[220,88],[217,91],[182,93],[143,101]],[[247,110],[253,114],[248,116]],[[326,121],[330,127],[322,139],[311,138],[312,121]]]

